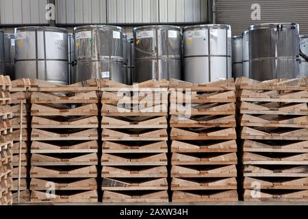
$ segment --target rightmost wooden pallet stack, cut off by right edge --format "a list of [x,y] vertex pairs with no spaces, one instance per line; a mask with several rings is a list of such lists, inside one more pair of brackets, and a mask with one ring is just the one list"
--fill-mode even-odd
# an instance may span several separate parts
[[307,201],[307,78],[237,83],[244,200]]

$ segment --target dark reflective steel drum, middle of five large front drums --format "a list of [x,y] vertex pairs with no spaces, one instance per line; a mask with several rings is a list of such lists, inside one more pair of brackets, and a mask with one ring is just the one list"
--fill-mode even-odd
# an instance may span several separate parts
[[135,81],[181,79],[181,29],[152,25],[133,29]]

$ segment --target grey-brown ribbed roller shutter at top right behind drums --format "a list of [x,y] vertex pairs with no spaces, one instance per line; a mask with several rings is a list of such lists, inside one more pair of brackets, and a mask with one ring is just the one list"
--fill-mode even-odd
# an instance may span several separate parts
[[[261,20],[251,18],[251,5],[261,6]],[[239,35],[258,23],[299,23],[300,32],[308,34],[308,0],[216,0],[216,23],[229,24]]]

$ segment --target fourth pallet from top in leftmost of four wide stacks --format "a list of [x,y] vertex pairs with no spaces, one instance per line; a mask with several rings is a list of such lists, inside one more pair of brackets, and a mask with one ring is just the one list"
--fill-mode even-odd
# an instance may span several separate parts
[[31,127],[34,129],[93,129],[99,128],[97,116],[33,116]]

